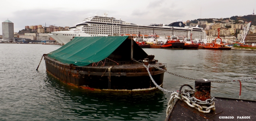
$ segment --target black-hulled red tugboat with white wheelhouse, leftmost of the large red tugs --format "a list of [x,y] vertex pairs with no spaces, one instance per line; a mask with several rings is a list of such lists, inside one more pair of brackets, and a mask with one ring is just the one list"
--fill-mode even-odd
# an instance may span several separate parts
[[180,42],[178,37],[172,36],[170,39],[168,39],[164,45],[161,46],[161,48],[164,49],[183,49],[185,43]]

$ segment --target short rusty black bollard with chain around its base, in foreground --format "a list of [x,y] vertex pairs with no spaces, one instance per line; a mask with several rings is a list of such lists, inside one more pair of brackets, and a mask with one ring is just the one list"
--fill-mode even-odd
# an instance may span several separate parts
[[205,101],[211,99],[211,81],[208,79],[196,79],[195,81],[196,99]]

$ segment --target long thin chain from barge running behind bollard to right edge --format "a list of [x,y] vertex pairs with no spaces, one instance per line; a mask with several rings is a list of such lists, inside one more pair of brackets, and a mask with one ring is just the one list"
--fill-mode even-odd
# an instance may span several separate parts
[[[187,76],[183,76],[183,75],[178,75],[178,74],[174,74],[172,72],[169,72],[169,71],[166,71],[164,70],[163,68],[159,68],[158,66],[149,66],[149,67],[155,67],[156,69],[159,69],[159,70],[162,70],[164,72],[167,72],[169,74],[172,74],[172,75],[176,75],[176,76],[179,76],[179,77],[182,77],[182,78],[186,78],[186,79],[190,79],[190,80],[196,80],[196,78],[191,78],[191,77],[187,77]],[[241,80],[211,80],[211,82],[240,82],[240,81],[247,81],[247,80],[255,80],[256,77],[252,77],[252,78],[248,78],[248,79],[241,79]]]

